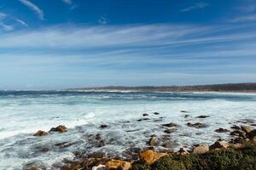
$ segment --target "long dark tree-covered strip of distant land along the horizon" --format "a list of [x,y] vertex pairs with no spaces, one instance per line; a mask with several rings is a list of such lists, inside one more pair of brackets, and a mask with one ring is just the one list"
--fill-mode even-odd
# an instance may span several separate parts
[[72,88],[69,90],[122,90],[122,91],[143,91],[143,92],[253,92],[256,93],[256,82],[249,83],[226,83],[195,86],[108,86],[99,88]]

